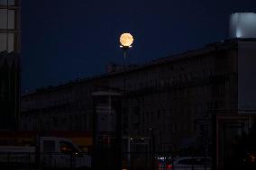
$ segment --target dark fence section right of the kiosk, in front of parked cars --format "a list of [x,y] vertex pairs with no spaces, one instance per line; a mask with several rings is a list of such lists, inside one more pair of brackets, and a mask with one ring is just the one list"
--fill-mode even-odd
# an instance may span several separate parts
[[123,155],[123,169],[128,170],[211,170],[209,157],[178,157],[169,153],[136,153]]

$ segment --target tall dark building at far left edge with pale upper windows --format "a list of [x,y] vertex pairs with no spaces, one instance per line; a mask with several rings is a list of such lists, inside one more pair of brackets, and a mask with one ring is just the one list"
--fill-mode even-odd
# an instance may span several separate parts
[[19,127],[20,1],[0,1],[0,130]]

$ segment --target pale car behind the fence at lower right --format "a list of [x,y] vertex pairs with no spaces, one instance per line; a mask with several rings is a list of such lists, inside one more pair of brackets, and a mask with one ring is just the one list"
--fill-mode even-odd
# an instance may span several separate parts
[[211,158],[209,157],[175,157],[174,170],[210,170]]

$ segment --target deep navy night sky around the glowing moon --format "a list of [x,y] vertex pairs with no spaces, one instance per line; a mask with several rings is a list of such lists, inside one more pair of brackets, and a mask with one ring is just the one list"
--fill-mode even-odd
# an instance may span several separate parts
[[22,89],[59,85],[123,63],[197,49],[228,38],[229,15],[256,12],[255,0],[23,0]]

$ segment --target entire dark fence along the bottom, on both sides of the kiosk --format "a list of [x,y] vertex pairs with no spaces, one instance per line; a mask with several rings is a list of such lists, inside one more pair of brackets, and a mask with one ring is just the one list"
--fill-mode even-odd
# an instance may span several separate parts
[[[178,157],[170,153],[123,153],[123,169],[127,170],[211,170],[208,157]],[[89,169],[87,154],[0,153],[0,167],[6,170]],[[107,161],[107,160],[106,160]]]

